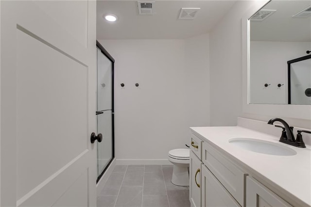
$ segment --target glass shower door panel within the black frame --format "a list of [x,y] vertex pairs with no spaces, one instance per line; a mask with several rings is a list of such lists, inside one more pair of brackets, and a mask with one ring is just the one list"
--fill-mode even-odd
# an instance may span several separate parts
[[98,180],[114,158],[113,143],[113,62],[97,50],[97,133],[103,135],[97,145]]

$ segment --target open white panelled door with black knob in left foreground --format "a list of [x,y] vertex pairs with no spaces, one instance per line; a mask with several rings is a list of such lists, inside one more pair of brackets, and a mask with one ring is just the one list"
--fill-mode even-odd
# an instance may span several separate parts
[[0,206],[96,206],[96,1],[0,17]]

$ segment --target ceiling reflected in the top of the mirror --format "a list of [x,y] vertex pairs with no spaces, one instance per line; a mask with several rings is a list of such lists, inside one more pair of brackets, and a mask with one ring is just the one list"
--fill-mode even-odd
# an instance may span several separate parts
[[263,21],[250,21],[250,39],[256,41],[311,42],[311,16],[292,16],[311,0],[272,0],[262,9],[276,10]]

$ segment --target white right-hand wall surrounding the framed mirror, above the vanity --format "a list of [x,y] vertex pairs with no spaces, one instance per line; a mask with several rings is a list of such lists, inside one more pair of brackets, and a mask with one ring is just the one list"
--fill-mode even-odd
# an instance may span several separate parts
[[[273,114],[266,116],[256,111],[253,114],[242,113],[242,18],[250,9],[260,8],[260,4],[263,5],[264,2],[237,1],[209,33],[212,126],[236,125],[238,116],[260,121],[274,117]],[[311,128],[310,120],[284,119],[291,125]]]

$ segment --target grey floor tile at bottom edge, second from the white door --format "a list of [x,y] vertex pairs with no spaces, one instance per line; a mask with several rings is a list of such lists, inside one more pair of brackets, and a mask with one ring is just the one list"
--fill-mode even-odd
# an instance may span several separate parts
[[121,187],[115,207],[141,207],[142,187]]

